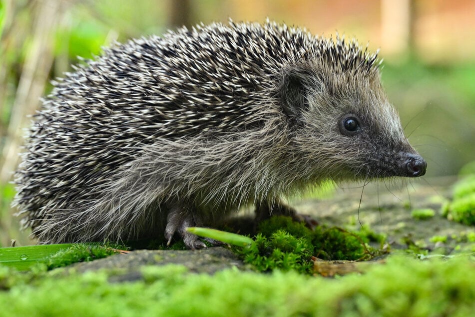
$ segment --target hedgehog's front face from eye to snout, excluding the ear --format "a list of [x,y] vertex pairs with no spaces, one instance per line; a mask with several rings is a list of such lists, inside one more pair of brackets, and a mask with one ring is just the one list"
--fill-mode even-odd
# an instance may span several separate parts
[[[362,104],[371,111],[346,109],[336,119],[332,142],[343,149],[342,170],[349,178],[424,175],[427,164],[407,141],[398,116],[391,111],[392,106],[389,103]],[[391,120],[381,117],[384,110],[393,113]],[[347,155],[350,156],[346,158]]]

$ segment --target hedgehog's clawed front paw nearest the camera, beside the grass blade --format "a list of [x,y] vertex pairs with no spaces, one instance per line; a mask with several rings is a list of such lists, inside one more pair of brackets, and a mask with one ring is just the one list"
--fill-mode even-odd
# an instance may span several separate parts
[[187,248],[194,250],[206,247],[206,244],[200,241],[197,235],[186,231],[187,227],[196,225],[195,217],[191,212],[186,212],[183,207],[170,208],[167,225],[165,227],[167,245],[170,244],[173,235],[178,233],[183,238],[183,242],[185,242]]

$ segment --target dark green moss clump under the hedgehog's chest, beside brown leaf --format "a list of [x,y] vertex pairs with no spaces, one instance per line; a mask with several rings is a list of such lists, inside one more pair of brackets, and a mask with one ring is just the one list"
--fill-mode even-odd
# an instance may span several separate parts
[[260,271],[310,272],[312,256],[332,260],[371,259],[383,251],[367,243],[383,244],[385,240],[384,235],[374,233],[369,227],[357,232],[326,226],[310,230],[303,223],[283,216],[263,221],[258,231],[254,244],[235,250]]

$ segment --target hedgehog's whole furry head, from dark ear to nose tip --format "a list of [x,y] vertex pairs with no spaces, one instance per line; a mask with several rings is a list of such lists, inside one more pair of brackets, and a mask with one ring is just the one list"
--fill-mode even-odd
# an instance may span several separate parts
[[427,164],[405,137],[379,73],[297,67],[283,81],[296,151],[316,170],[335,180],[425,174]]

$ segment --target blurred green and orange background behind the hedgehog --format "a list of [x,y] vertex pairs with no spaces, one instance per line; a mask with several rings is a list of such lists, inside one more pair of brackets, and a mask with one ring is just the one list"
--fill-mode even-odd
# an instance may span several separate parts
[[381,48],[383,81],[426,177],[457,174],[475,151],[475,1],[472,0],[1,0],[0,246],[27,244],[9,202],[27,115],[49,81],[114,40],[198,22],[264,21]]

